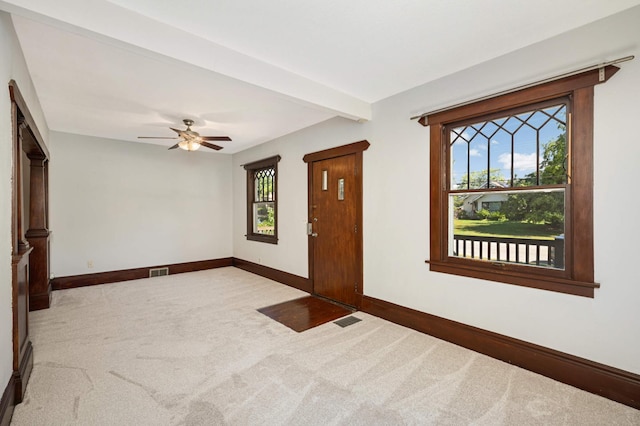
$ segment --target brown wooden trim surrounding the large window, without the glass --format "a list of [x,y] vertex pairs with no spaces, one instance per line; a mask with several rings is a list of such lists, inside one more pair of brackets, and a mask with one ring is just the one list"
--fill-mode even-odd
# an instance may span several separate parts
[[[587,71],[531,88],[424,116],[430,126],[430,270],[515,284],[585,297],[594,297],[593,259],[593,100],[596,84],[606,82],[619,68]],[[572,117],[569,138],[571,184],[567,185],[565,269],[547,270],[507,263],[480,262],[448,255],[447,161],[445,126],[512,110],[549,99],[569,96]],[[526,269],[524,269],[526,268]]]

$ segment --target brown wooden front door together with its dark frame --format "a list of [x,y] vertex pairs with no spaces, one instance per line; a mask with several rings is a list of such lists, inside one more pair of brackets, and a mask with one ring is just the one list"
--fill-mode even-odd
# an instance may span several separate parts
[[313,292],[355,307],[363,287],[362,151],[368,146],[362,141],[305,156]]

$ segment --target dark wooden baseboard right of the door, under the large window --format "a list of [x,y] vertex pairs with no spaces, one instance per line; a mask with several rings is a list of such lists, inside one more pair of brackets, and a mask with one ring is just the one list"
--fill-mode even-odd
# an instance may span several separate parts
[[640,409],[640,375],[364,296],[362,311]]

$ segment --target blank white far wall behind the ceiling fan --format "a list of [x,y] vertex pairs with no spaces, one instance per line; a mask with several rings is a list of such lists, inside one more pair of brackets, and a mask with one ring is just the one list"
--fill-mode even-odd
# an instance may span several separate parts
[[58,132],[51,145],[55,276],[232,256],[230,155]]

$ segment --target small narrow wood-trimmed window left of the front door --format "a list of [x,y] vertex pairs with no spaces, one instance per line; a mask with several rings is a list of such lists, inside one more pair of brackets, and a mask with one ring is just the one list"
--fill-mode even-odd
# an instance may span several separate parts
[[280,156],[245,164],[247,239],[278,243],[278,162]]

